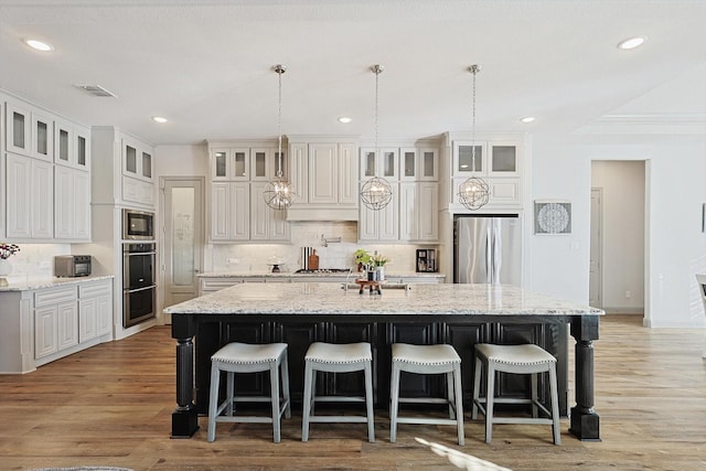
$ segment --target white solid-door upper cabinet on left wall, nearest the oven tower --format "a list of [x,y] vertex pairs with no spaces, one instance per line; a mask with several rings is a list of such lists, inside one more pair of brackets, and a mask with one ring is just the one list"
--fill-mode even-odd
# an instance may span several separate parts
[[90,239],[90,174],[56,165],[54,169],[54,238]]

